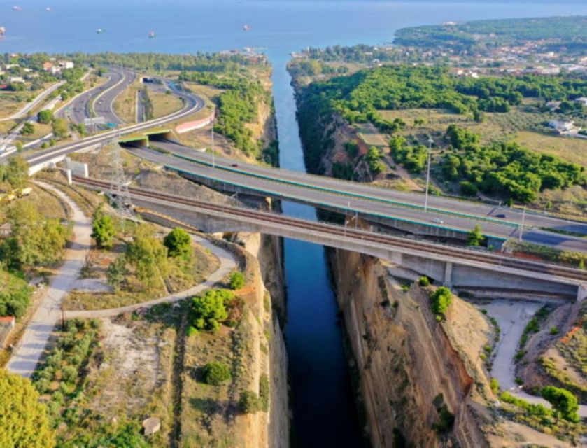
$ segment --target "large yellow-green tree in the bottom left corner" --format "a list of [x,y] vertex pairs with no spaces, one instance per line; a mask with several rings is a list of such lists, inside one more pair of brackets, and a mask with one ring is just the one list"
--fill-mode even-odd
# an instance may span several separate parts
[[29,379],[0,370],[0,447],[52,448],[45,405]]

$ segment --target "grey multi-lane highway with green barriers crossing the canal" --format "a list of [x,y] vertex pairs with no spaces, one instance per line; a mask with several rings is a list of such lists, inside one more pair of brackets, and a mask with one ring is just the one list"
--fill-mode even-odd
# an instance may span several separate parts
[[[147,148],[134,148],[132,152],[169,169],[192,174],[199,179],[220,181],[241,186],[251,192],[278,199],[304,202],[323,209],[358,213],[369,219],[399,219],[407,223],[420,223],[431,228],[444,228],[469,232],[479,223],[483,233],[498,239],[519,235],[521,214],[507,208],[430,196],[428,211],[423,211],[423,195],[398,192],[368,186],[363,183],[339,181],[325,176],[311,176],[284,169],[260,167],[211,155],[169,141],[154,141],[153,146],[169,151],[168,154]],[[497,218],[506,214],[507,218]],[[546,232],[535,227],[565,228],[573,226],[587,232],[587,225],[549,216],[525,214],[525,241],[545,244],[569,251],[586,251],[587,240]]]

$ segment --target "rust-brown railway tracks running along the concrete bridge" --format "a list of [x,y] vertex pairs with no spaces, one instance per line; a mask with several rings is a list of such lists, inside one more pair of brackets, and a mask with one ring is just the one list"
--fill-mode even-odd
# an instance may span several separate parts
[[[99,181],[97,179],[82,178],[73,176],[73,180],[100,188],[102,190],[108,190],[110,183],[105,181]],[[512,259],[511,256],[507,257],[504,255],[495,255],[493,253],[476,253],[467,249],[458,248],[454,246],[441,246],[439,244],[432,244],[426,241],[417,240],[406,240],[400,237],[394,237],[392,235],[383,235],[373,232],[367,232],[365,230],[355,230],[348,227],[341,227],[339,225],[333,225],[328,223],[320,223],[313,221],[306,221],[299,218],[291,218],[289,216],[283,216],[278,214],[272,214],[266,211],[258,211],[253,209],[243,209],[241,207],[232,207],[227,205],[211,204],[209,202],[199,201],[190,199],[188,197],[181,197],[176,195],[169,195],[167,193],[159,193],[153,190],[146,190],[143,188],[129,187],[129,193],[140,197],[148,197],[155,200],[163,200],[170,203],[187,205],[190,207],[198,207],[200,209],[220,212],[222,214],[230,214],[237,217],[249,218],[260,220],[264,222],[271,222],[278,225],[290,225],[296,228],[302,228],[304,230],[311,230],[316,232],[325,232],[328,235],[336,235],[344,238],[353,238],[360,241],[369,241],[376,244],[383,244],[387,246],[395,246],[406,248],[409,250],[424,251],[427,253],[434,253],[436,255],[446,256],[454,258],[463,258],[466,260],[481,262],[486,265],[497,265],[500,267],[510,267],[512,269],[521,269],[530,272],[536,272],[537,274],[549,274],[553,276],[560,276],[566,279],[573,279],[578,281],[587,282],[587,272],[579,269],[572,269],[567,267],[561,267],[557,265],[549,265],[542,262],[531,262]]]

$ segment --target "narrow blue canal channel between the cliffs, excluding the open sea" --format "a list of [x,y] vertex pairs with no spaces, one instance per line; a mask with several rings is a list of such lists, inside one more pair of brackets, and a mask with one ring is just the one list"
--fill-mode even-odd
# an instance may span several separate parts
[[[286,61],[273,60],[280,165],[305,171]],[[283,202],[283,213],[316,220],[316,210]],[[323,246],[285,239],[288,349],[296,447],[360,447],[361,431],[337,323]]]

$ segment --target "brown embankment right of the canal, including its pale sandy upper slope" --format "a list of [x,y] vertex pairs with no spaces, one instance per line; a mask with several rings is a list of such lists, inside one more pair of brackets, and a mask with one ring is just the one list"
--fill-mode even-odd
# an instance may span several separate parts
[[481,356],[494,334],[478,309],[453,297],[439,323],[431,287],[404,292],[376,258],[328,256],[373,447],[565,445],[497,416]]

